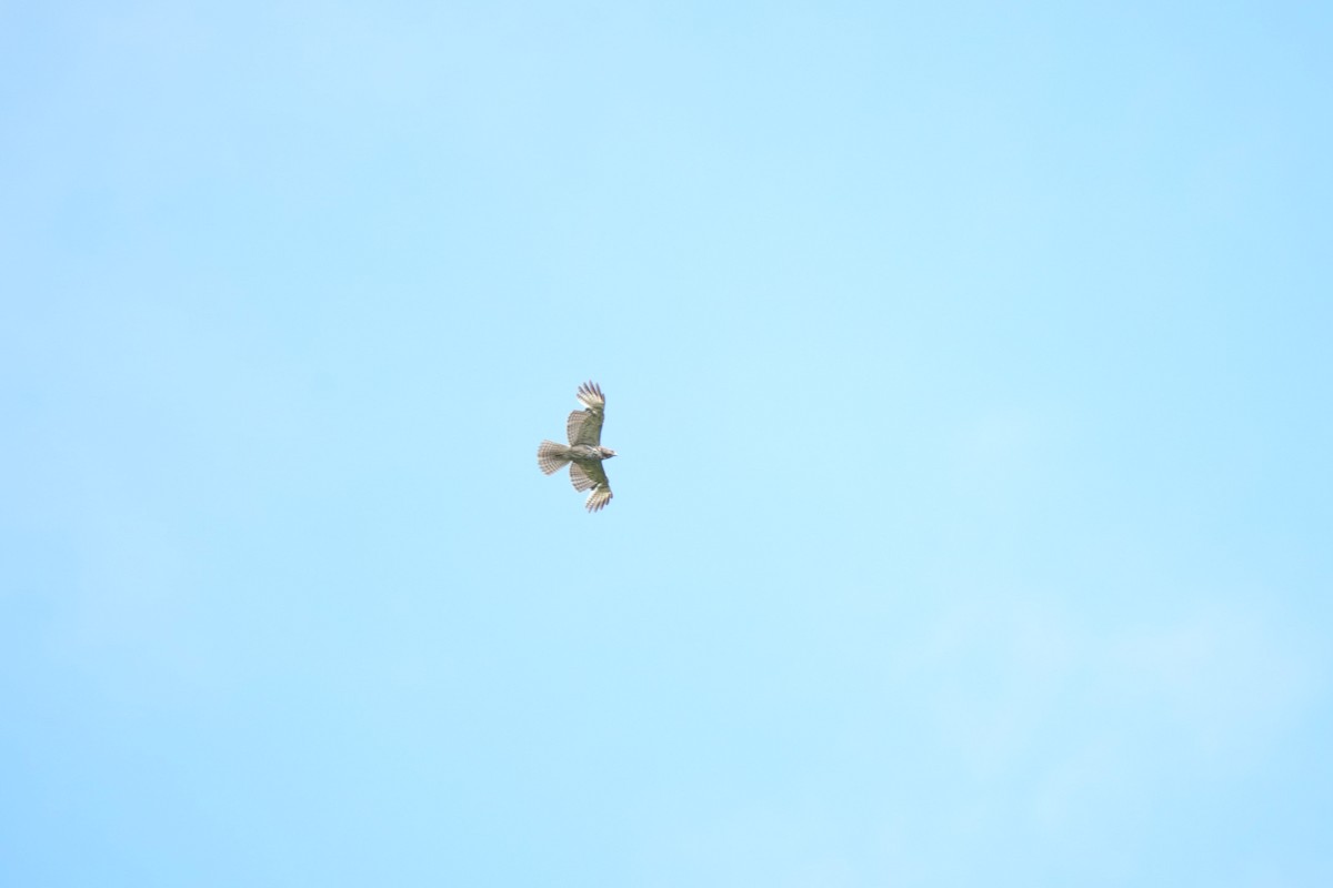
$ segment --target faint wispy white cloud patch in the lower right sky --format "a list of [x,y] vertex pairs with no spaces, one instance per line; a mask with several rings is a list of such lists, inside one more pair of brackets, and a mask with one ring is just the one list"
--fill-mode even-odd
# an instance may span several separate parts
[[933,676],[934,742],[1038,828],[1132,804],[1162,770],[1206,779],[1258,766],[1328,678],[1314,639],[1257,602],[1109,630],[1054,606],[973,604],[905,656]]

